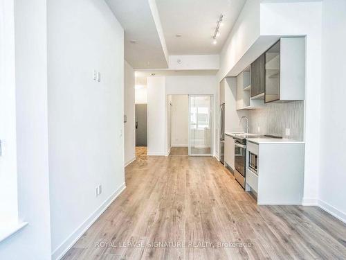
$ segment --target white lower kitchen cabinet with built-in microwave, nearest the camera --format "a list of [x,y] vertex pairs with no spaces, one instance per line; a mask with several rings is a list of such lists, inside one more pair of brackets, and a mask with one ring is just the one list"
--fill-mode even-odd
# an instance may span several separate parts
[[258,205],[301,205],[304,144],[262,140],[246,142],[246,191],[257,193]]

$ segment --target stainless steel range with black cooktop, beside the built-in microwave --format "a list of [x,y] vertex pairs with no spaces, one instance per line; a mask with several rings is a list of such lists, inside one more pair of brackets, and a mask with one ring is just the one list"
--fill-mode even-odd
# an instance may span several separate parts
[[[246,177],[246,139],[247,138],[282,138],[273,135],[252,135],[252,134],[235,134],[235,180],[245,189]],[[257,163],[256,163],[257,164]],[[256,165],[257,166],[257,165]]]

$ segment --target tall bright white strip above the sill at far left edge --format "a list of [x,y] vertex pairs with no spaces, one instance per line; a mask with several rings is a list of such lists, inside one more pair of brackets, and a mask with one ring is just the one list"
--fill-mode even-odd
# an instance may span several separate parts
[[14,10],[0,0],[0,230],[18,220]]

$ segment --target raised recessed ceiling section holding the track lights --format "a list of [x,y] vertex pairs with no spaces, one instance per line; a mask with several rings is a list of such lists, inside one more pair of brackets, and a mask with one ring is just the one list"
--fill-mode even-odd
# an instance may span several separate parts
[[[246,0],[156,0],[170,55],[218,54]],[[224,14],[217,44],[217,20]],[[180,34],[181,37],[176,37]]]

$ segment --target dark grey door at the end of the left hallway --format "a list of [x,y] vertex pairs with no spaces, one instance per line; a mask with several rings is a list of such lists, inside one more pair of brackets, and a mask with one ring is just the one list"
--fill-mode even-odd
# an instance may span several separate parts
[[147,104],[136,104],[136,146],[147,146]]

